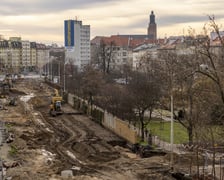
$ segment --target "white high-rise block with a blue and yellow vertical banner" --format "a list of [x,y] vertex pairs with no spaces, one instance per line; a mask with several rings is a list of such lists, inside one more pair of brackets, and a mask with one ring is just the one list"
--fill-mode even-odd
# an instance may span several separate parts
[[78,69],[90,63],[90,25],[82,21],[64,21],[65,59]]

